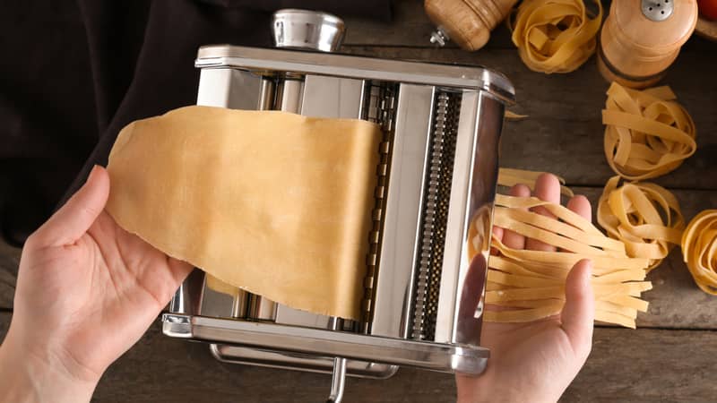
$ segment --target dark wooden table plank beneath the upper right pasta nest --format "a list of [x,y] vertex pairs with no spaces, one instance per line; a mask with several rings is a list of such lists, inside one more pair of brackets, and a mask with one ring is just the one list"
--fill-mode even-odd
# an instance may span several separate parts
[[[702,40],[702,39],[699,39]],[[705,43],[706,42],[702,42]],[[713,44],[709,44],[712,45]],[[705,45],[706,47],[706,45]],[[682,189],[717,189],[717,80],[712,80],[717,52],[687,48],[666,80],[695,119],[698,150],[682,167],[655,182]],[[706,47],[709,48],[709,47]],[[602,147],[600,111],[609,84],[594,60],[570,74],[545,75],[528,70],[513,49],[470,54],[459,49],[410,47],[349,47],[352,54],[431,62],[483,64],[505,73],[514,82],[518,106],[529,115],[505,124],[501,163],[510,167],[549,170],[569,184],[602,186],[615,175]],[[701,78],[701,79],[695,79]]]

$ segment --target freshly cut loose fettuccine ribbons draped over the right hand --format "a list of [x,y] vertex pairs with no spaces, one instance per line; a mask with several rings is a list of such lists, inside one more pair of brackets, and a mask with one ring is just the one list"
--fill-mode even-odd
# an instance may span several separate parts
[[[557,219],[527,209],[544,207]],[[473,225],[479,225],[474,223]],[[647,310],[642,292],[647,259],[630,258],[625,245],[602,235],[590,221],[565,207],[535,197],[496,196],[494,225],[558,247],[557,252],[513,249],[493,237],[498,255],[488,260],[486,304],[488,322],[531,322],[560,313],[565,304],[565,281],[581,259],[593,263],[595,319],[635,328],[637,312]]]

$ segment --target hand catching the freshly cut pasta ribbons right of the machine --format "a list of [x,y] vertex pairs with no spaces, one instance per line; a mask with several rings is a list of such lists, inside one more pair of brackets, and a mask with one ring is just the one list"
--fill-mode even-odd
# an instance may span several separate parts
[[[540,176],[534,196],[560,202],[560,185],[552,175]],[[516,185],[514,196],[530,196]],[[591,219],[590,202],[583,196],[567,208]],[[536,212],[550,216],[544,209]],[[554,251],[549,244],[503,228],[494,228],[503,243],[517,249]],[[481,344],[490,348],[486,372],[479,377],[456,375],[459,402],[555,402],[580,371],[592,347],[594,301],[590,284],[592,263],[575,264],[566,280],[562,313],[528,323],[483,322]],[[487,309],[491,309],[490,306]]]

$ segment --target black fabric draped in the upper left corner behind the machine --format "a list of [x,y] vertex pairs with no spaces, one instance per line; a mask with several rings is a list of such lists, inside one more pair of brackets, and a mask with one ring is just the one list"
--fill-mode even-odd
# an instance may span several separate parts
[[198,47],[269,47],[281,8],[391,18],[388,0],[9,3],[0,12],[0,227],[14,244],[107,163],[125,124],[194,103]]

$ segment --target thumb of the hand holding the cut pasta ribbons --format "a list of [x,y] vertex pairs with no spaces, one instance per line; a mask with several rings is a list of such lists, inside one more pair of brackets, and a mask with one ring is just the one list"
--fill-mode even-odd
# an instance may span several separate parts
[[592,322],[595,320],[595,300],[592,296],[592,262],[583,259],[575,263],[566,279],[566,304],[560,315],[575,354],[583,360],[590,354]]

